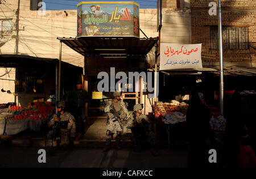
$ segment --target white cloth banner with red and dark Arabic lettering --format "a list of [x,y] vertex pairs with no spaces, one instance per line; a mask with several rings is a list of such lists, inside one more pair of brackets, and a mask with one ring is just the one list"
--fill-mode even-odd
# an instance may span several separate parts
[[199,69],[202,44],[167,44],[160,46],[160,70]]

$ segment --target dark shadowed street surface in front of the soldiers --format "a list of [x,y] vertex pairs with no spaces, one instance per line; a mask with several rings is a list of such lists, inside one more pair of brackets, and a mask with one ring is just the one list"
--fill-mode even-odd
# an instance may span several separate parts
[[134,152],[130,149],[110,150],[73,148],[55,149],[46,155],[46,163],[38,162],[38,150],[32,147],[1,147],[0,167],[79,167],[79,168],[173,168],[187,167],[186,150],[158,150],[159,156],[150,150]]

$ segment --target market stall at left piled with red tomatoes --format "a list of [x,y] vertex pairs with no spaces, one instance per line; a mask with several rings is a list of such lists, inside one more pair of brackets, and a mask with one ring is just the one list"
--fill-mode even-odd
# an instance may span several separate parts
[[15,135],[27,129],[38,132],[53,113],[55,107],[48,102],[31,103],[27,108],[10,106],[0,109],[0,134]]

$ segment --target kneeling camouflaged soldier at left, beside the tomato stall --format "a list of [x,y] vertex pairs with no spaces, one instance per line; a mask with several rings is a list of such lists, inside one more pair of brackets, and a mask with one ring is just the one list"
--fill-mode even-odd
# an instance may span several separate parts
[[[52,119],[47,123],[48,127],[52,127],[47,134],[46,147],[52,148],[53,139],[62,149],[66,149],[69,145],[73,144],[73,139],[76,137],[76,123],[75,118],[71,113],[64,111],[65,102],[60,101],[57,105],[57,114],[54,114]],[[57,125],[59,124],[59,134],[56,134]],[[57,136],[56,136],[57,135]]]

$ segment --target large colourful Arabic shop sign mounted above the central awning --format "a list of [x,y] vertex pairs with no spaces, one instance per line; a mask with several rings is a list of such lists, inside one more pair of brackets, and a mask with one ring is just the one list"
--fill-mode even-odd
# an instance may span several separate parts
[[81,2],[77,5],[77,37],[139,37],[139,5],[134,2]]

